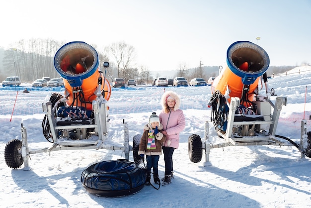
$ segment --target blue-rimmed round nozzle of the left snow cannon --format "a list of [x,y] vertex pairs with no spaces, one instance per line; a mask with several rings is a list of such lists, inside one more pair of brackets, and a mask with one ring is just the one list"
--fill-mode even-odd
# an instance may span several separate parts
[[56,52],[54,66],[71,87],[80,87],[97,70],[98,54],[85,42],[70,42]]

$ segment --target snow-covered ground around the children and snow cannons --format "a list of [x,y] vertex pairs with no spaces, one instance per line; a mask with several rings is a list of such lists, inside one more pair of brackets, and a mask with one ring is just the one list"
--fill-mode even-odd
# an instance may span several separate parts
[[[300,70],[300,73],[298,73]],[[307,120],[311,131],[311,67],[298,67],[288,75],[268,80],[278,96],[287,97],[282,107],[276,134],[300,142],[301,120]],[[22,88],[30,88],[23,84]],[[50,147],[42,133],[44,117],[41,103],[54,91],[30,89],[18,94],[15,89],[0,88],[0,207],[29,208],[305,208],[311,207],[311,159],[301,158],[294,146],[238,146],[214,148],[210,153],[212,166],[204,166],[205,157],[192,163],[188,157],[188,137],[204,138],[204,122],[210,121],[207,104],[211,87],[156,88],[136,87],[112,89],[109,100],[111,143],[123,143],[123,119],[128,123],[130,144],[141,134],[152,111],[160,112],[159,100],[164,90],[173,90],[181,97],[186,127],[180,135],[180,146],[173,155],[175,178],[159,190],[145,186],[140,192],[118,198],[89,194],[80,182],[82,171],[96,162],[124,158],[116,150],[68,150],[31,155],[30,171],[11,169],[4,161],[6,143],[21,139],[21,123],[27,128],[29,148]],[[263,88],[264,91],[264,88]],[[261,93],[264,93],[264,92]],[[276,96],[271,97],[274,103]],[[15,102],[16,101],[16,102]],[[12,113],[12,109],[14,111]],[[210,123],[210,140],[219,143]],[[286,141],[284,141],[286,142]],[[132,152],[130,161],[134,161]],[[163,155],[159,160],[159,175],[164,174]]]

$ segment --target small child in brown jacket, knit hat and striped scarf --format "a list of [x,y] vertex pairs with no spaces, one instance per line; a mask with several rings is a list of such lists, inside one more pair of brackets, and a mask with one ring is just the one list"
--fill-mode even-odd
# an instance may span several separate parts
[[162,154],[161,143],[165,141],[165,135],[161,133],[163,131],[163,125],[160,124],[159,117],[156,112],[153,112],[149,118],[149,123],[144,126],[144,133],[139,145],[138,154],[141,157],[146,155],[147,160],[147,182],[146,185],[150,185],[151,168],[154,171],[154,181],[156,184],[160,184],[158,176],[158,160]]

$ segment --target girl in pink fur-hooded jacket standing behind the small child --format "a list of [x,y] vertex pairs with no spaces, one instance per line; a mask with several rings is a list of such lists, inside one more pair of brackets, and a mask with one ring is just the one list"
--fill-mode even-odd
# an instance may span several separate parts
[[162,134],[166,136],[162,143],[164,154],[165,175],[162,179],[163,186],[168,185],[173,178],[173,153],[179,146],[179,132],[185,128],[185,116],[179,109],[180,98],[172,92],[167,91],[161,98],[162,111],[159,114],[160,123],[163,125]]

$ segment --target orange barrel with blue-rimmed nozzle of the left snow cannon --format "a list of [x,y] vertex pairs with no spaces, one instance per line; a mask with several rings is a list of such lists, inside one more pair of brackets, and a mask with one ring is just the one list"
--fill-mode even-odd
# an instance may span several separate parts
[[54,66],[63,77],[68,105],[86,106],[87,110],[92,110],[99,77],[103,81],[100,91],[109,100],[111,86],[99,72],[98,54],[92,46],[78,41],[63,45],[55,54]]

